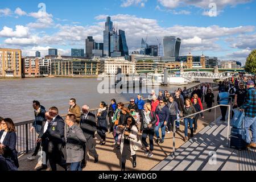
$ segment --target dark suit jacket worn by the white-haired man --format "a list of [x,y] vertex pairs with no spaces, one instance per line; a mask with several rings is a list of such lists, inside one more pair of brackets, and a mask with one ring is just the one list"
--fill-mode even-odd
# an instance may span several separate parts
[[93,137],[95,131],[97,130],[95,115],[89,112],[85,117],[84,114],[81,114],[80,127],[82,129],[82,133],[84,133],[84,136],[87,140],[90,137]]

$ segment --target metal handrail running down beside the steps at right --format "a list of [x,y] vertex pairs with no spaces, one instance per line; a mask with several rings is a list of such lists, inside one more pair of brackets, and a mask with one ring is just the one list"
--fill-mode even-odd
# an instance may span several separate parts
[[[194,113],[194,114],[191,114],[191,115],[187,115],[186,117],[175,119],[174,126],[173,126],[174,127],[174,137],[173,137],[173,146],[172,146],[172,155],[173,156],[175,156],[175,134],[176,134],[176,124],[175,123],[176,123],[176,121],[180,121],[181,119],[192,117],[193,115],[196,115],[196,114],[204,113],[205,111],[208,111],[208,110],[216,109],[217,107],[220,107],[220,106],[226,106],[229,109],[229,112],[228,112],[228,134],[227,134],[227,137],[226,137],[226,139],[227,139],[227,146],[229,147],[229,125],[230,125],[231,105],[220,104],[220,105],[213,106],[213,107],[205,109],[205,110],[201,110],[201,111],[199,111],[197,113]],[[215,112],[216,112],[216,110],[215,110]],[[215,122],[216,122],[216,117],[215,117]]]

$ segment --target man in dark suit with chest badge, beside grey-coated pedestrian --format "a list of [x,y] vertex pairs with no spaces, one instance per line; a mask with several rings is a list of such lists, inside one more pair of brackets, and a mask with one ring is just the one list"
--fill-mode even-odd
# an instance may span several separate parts
[[57,170],[56,164],[59,164],[67,171],[66,160],[62,151],[65,146],[65,123],[60,117],[57,107],[51,107],[49,109],[49,115],[52,118],[52,122],[49,123],[46,133],[40,137],[39,141],[48,140],[48,159],[52,171]]

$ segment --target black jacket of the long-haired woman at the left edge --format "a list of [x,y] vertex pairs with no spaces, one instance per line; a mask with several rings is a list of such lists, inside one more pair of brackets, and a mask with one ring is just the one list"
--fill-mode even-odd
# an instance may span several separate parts
[[[3,135],[4,130],[0,131],[0,138]],[[18,162],[18,152],[16,151],[16,133],[15,132],[7,132],[5,139],[3,140],[3,145],[5,146],[5,158],[10,158],[13,160],[15,166],[19,167]]]

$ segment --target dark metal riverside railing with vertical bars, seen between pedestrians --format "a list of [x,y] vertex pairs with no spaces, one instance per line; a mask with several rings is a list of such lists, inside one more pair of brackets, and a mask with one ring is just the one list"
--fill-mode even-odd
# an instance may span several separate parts
[[[193,92],[193,90],[196,88],[196,86],[200,86],[201,84],[192,86],[191,88],[188,88],[189,94]],[[210,83],[210,86],[212,88],[218,86],[216,83]],[[148,98],[144,98],[144,102],[148,102]],[[124,105],[125,107],[128,107],[130,102],[125,102]],[[98,114],[98,109],[92,109],[90,110],[91,113],[97,116]],[[64,121],[65,121],[65,115],[61,116]],[[97,118],[97,117],[96,117]],[[110,125],[109,117],[107,117],[108,121],[108,126]],[[15,128],[16,128],[16,150],[18,151],[19,154],[22,154],[24,152],[28,153],[31,150],[34,150],[36,147],[36,139],[38,135],[36,134],[35,130],[30,132],[30,128],[32,127],[32,123],[34,120],[29,120],[29,121],[24,121],[24,122],[19,122],[15,123]],[[67,131],[68,131],[68,126],[65,126],[65,137],[67,136]]]

